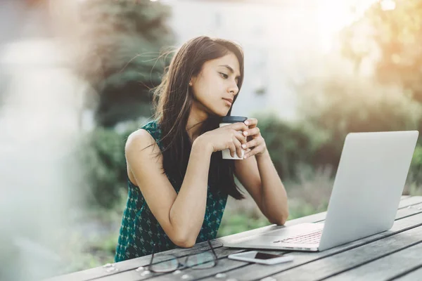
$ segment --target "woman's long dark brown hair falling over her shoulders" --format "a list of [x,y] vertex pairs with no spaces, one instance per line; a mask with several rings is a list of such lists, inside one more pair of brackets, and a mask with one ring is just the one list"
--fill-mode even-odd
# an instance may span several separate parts
[[[238,44],[225,39],[196,37],[183,44],[174,54],[166,68],[161,84],[154,92],[155,119],[161,129],[162,168],[167,176],[181,185],[186,174],[191,153],[191,140],[186,132],[193,93],[188,86],[191,77],[202,70],[208,60],[234,53],[238,59],[241,76],[238,79],[240,91],[243,83],[243,50]],[[236,101],[238,95],[234,97]],[[227,116],[231,115],[231,108]],[[202,124],[202,132],[217,129],[220,117],[210,116]],[[243,194],[234,181],[234,161],[223,160],[221,152],[212,153],[208,179],[211,188],[217,188],[227,195],[241,200]]]

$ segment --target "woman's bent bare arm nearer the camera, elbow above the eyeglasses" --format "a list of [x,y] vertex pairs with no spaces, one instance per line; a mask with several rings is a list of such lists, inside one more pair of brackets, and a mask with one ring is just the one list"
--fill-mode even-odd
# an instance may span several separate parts
[[[150,144],[153,145],[146,148]],[[147,131],[141,129],[132,133],[125,150],[129,169],[162,229],[174,244],[192,247],[205,216],[212,151],[201,142],[193,143],[178,195],[167,176],[162,174],[162,155],[156,157],[160,149]]]

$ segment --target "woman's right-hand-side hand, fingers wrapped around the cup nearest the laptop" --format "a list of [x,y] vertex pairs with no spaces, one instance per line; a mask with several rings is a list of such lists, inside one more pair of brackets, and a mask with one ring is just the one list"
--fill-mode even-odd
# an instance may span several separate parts
[[260,128],[257,127],[258,120],[251,118],[244,123],[249,126],[248,130],[243,131],[243,136],[248,137],[248,142],[242,145],[242,148],[246,150],[244,158],[251,157],[252,155],[260,156],[267,153],[267,145],[261,136]]

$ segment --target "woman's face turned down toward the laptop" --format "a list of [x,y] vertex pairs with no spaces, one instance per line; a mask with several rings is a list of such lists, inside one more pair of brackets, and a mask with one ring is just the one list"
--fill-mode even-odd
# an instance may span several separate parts
[[208,60],[190,85],[197,107],[210,115],[226,116],[237,95],[240,67],[234,53]]

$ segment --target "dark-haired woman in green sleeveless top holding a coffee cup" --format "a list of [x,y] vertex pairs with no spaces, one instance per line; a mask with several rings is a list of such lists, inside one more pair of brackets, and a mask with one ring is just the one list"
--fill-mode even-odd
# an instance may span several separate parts
[[[129,195],[115,261],[151,254],[154,244],[165,251],[214,239],[228,195],[244,198],[234,175],[271,223],[285,223],[286,190],[257,119],[218,127],[242,82],[243,51],[231,41],[197,37],[174,55],[155,91],[155,120],[127,139]],[[222,159],[227,148],[248,152]]]

